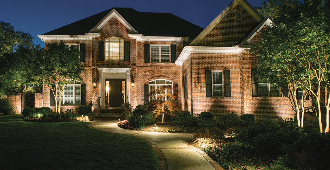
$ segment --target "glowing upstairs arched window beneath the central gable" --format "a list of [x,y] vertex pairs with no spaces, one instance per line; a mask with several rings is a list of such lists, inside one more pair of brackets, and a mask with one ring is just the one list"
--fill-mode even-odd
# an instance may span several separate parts
[[105,39],[105,60],[124,61],[124,40],[118,37]]

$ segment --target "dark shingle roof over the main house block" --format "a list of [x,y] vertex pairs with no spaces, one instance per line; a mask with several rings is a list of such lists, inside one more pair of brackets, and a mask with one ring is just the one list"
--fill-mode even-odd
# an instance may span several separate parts
[[112,8],[43,35],[85,35],[115,9],[144,36],[196,38],[204,29],[170,13],[140,13],[132,8]]

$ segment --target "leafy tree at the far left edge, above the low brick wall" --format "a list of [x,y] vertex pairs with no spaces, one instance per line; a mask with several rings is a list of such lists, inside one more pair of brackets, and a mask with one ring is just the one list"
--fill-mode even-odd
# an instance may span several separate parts
[[34,47],[32,36],[16,31],[9,23],[0,21],[0,94],[26,92],[35,83],[31,71],[31,56],[42,49]]

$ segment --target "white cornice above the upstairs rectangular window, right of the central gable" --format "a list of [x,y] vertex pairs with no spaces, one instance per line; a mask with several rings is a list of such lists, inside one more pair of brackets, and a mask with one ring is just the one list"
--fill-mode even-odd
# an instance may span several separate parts
[[136,41],[188,41],[189,37],[156,37],[156,36],[143,36],[142,34],[128,34],[129,37]]

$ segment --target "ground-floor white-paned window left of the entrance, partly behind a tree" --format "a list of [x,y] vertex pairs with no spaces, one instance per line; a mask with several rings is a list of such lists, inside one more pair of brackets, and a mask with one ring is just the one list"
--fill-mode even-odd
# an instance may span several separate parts
[[81,104],[81,83],[78,81],[70,81],[67,85],[59,85],[57,88],[57,101],[59,101],[60,90],[64,87],[65,89],[61,95],[61,104]]

